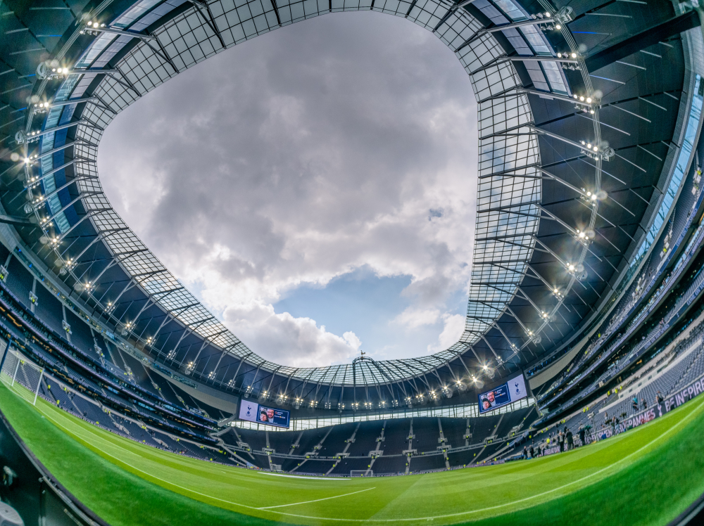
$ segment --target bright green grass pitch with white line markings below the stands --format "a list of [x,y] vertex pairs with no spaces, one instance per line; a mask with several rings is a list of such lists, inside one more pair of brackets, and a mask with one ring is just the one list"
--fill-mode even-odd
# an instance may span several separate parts
[[4,385],[0,409],[44,466],[119,525],[664,525],[704,492],[704,397],[565,454],[425,475],[280,477],[103,431]]

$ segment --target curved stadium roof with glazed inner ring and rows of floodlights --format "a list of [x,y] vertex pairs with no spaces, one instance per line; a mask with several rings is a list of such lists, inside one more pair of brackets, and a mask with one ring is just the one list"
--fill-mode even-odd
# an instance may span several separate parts
[[[680,34],[700,22],[666,1],[4,6],[0,220],[104,326],[224,390],[330,409],[347,399],[344,386],[373,387],[379,400],[447,394],[472,376],[546,359],[615,300],[667,225],[684,171],[693,83]],[[465,332],[427,357],[282,366],[246,347],[122,221],[103,194],[97,150],[117,113],[215,53],[306,18],[369,9],[434,32],[472,83],[479,188]]]

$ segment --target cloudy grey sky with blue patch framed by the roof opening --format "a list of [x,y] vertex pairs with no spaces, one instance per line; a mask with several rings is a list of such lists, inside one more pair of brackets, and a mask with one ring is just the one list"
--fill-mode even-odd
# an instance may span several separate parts
[[470,80],[403,18],[334,13],[209,58],[120,113],[103,188],[254,352],[290,366],[446,349],[477,186]]

